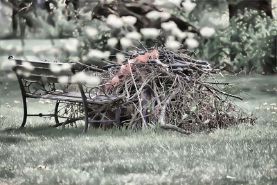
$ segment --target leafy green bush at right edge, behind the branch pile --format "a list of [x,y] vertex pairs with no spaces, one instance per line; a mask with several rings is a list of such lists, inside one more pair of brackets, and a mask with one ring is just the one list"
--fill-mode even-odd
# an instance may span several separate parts
[[229,70],[276,73],[276,28],[277,22],[265,13],[248,10],[233,17],[214,37],[200,39],[197,53]]

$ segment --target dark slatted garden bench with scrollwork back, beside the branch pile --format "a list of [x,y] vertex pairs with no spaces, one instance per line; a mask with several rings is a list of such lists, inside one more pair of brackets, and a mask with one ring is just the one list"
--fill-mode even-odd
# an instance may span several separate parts
[[[125,96],[116,94],[107,95],[105,93],[98,95],[96,94],[96,90],[100,89],[100,86],[88,87],[80,82],[72,82],[71,79],[75,73],[88,69],[88,66],[80,64],[79,62],[69,62],[66,63],[66,69],[53,72],[51,65],[62,67],[64,63],[20,60],[12,56],[8,59],[15,61],[15,66],[12,70],[17,75],[23,99],[24,116],[21,127],[26,125],[28,116],[54,117],[55,127],[83,120],[83,132],[87,132],[89,123],[101,123],[105,121],[105,123],[114,122],[117,126],[120,125],[121,104],[125,101]],[[97,71],[95,68],[92,68],[92,70]],[[68,84],[75,84],[78,87],[78,92],[66,91],[64,85],[59,82],[61,76],[66,76],[69,79]],[[53,114],[28,114],[27,98],[55,100]],[[61,114],[61,103],[64,103],[64,105],[72,103],[78,105],[81,109],[71,109],[71,112],[67,110]],[[114,118],[111,119],[105,116],[107,110],[113,112]],[[82,112],[82,115],[72,116],[74,111]],[[105,120],[102,118],[105,118]],[[61,119],[64,121],[60,121]]]

